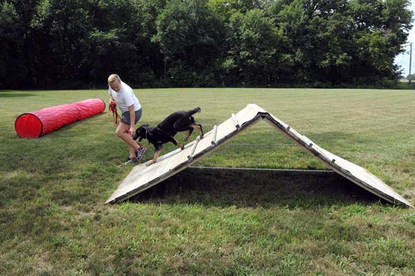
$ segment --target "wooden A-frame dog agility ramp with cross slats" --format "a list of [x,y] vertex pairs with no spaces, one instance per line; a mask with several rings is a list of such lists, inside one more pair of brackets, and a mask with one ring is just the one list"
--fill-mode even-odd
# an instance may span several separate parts
[[160,156],[153,165],[146,166],[143,163],[133,167],[130,174],[124,178],[124,181],[120,183],[118,189],[113,192],[106,203],[116,203],[129,199],[129,197],[181,172],[260,120],[265,120],[278,131],[282,131],[283,134],[315,156],[315,158],[321,160],[335,172],[338,172],[338,174],[363,187],[365,190],[391,203],[414,207],[366,169],[322,149],[315,142],[299,134],[295,129],[256,104],[248,104],[246,108],[238,113],[232,113],[228,120],[222,122],[221,125],[215,125],[202,139],[198,136],[196,140],[185,145],[185,149],[176,149]]

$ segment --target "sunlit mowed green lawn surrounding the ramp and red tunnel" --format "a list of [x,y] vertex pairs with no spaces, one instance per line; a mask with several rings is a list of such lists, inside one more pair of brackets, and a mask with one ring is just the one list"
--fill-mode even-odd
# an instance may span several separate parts
[[[205,132],[258,104],[415,203],[415,91],[135,92],[139,124],[201,107],[195,118]],[[118,167],[128,154],[109,113],[39,139],[18,138],[14,129],[21,113],[89,98],[109,96],[106,89],[0,91],[0,275],[415,275],[415,210],[324,191],[338,185],[319,185],[324,175],[313,177],[318,189],[302,192],[308,174],[284,183],[234,174],[221,183],[202,173],[176,180],[191,187],[153,187],[104,205],[131,171]],[[165,145],[162,154],[175,148]],[[326,169],[264,122],[195,165]]]

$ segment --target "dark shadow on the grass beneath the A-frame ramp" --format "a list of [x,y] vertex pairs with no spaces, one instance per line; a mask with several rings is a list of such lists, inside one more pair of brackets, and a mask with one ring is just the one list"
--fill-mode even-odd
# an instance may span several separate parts
[[[374,204],[380,198],[335,172],[188,168],[130,199],[217,207]],[[381,200],[382,203],[388,204]]]

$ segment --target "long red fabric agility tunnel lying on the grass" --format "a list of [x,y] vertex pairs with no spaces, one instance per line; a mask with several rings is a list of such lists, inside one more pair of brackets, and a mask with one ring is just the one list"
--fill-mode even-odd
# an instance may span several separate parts
[[15,121],[15,130],[20,138],[39,138],[65,125],[102,113],[104,110],[105,102],[101,99],[47,107],[21,114]]

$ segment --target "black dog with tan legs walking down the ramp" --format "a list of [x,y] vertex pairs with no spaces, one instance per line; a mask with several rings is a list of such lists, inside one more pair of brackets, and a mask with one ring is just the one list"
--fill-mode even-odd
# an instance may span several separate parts
[[157,127],[150,127],[146,124],[136,130],[136,134],[133,137],[134,140],[139,138],[138,142],[140,142],[142,139],[147,139],[154,145],[154,156],[153,159],[147,163],[147,166],[156,163],[158,154],[160,154],[161,149],[163,149],[163,144],[167,142],[172,142],[181,149],[185,148],[183,144],[174,138],[179,131],[188,131],[185,136],[185,140],[187,140],[193,130],[198,129],[200,137],[203,138],[202,126],[196,125],[192,116],[199,111],[201,111],[200,107],[196,107],[196,109],[190,111],[176,111],[165,118],[163,122],[160,122]]

